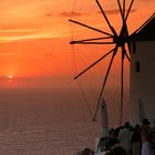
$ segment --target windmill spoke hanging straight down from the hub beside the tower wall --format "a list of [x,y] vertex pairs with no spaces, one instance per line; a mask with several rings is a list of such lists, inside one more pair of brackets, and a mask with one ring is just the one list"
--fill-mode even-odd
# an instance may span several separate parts
[[120,126],[122,125],[122,116],[123,116],[123,96],[124,96],[124,53],[126,53],[123,49],[122,51],[122,61],[121,61],[121,113],[120,113]]

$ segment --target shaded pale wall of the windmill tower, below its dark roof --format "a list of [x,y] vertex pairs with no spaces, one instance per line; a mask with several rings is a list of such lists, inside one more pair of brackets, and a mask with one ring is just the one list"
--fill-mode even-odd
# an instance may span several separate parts
[[[131,61],[131,122],[140,123],[140,97],[144,116],[155,120],[155,41],[135,43]],[[134,50],[133,49],[133,50]],[[137,65],[140,64],[140,72]]]

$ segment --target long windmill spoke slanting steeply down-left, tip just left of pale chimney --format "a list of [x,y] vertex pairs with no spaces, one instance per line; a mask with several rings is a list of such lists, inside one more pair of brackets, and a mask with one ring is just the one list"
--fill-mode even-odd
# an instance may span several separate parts
[[114,60],[114,56],[115,56],[116,52],[117,52],[117,46],[115,46],[115,49],[114,49],[111,62],[110,62],[107,71],[106,71],[106,75],[105,75],[104,81],[103,81],[103,85],[102,85],[102,89],[101,89],[101,92],[100,92],[100,96],[99,96],[99,101],[97,101],[97,105],[96,105],[96,110],[95,110],[95,114],[94,114],[93,121],[95,121],[95,118],[96,118],[97,111],[99,111],[99,105],[101,103],[101,99],[102,99],[103,91],[104,91],[104,87],[105,87],[105,84],[106,84],[106,80],[108,78],[108,74],[110,74],[110,71],[111,71],[111,66],[113,64],[113,60]]

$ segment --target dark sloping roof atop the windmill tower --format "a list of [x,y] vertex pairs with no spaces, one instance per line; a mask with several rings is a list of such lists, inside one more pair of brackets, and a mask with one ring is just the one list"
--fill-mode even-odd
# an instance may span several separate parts
[[155,40],[155,13],[152,18],[132,35],[132,40],[135,41],[153,41]]

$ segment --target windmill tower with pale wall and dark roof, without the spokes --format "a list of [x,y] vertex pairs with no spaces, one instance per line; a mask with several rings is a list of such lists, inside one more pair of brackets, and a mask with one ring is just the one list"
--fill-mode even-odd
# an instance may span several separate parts
[[[133,35],[131,121],[155,120],[155,14]],[[140,107],[141,106],[141,107]]]

